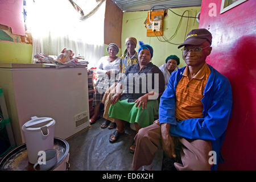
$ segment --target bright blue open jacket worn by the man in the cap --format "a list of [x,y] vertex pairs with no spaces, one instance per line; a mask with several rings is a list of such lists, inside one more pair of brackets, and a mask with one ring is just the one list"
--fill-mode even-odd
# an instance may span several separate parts
[[183,77],[185,70],[183,67],[171,74],[167,88],[160,98],[159,123],[169,123],[171,125],[170,135],[174,137],[211,140],[213,151],[217,154],[217,163],[214,163],[211,169],[217,170],[217,164],[224,162],[220,149],[228,121],[232,116],[233,99],[228,78],[212,66],[208,66],[210,75],[201,99],[204,105],[203,117],[176,122],[176,87]]

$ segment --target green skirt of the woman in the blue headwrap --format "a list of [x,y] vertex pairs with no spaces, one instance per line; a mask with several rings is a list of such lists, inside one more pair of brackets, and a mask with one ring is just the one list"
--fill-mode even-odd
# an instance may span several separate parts
[[141,127],[147,127],[154,122],[154,116],[158,115],[158,100],[147,101],[147,109],[142,106],[135,107],[136,103],[128,102],[128,99],[117,101],[110,105],[109,117],[121,119],[130,123],[138,123]]

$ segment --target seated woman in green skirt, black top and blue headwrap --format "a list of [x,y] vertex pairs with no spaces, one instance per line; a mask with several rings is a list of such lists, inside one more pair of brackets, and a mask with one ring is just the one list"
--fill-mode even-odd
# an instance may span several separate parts
[[[117,90],[111,98],[109,117],[115,118],[117,129],[110,135],[109,141],[116,142],[125,131],[125,123],[134,123],[136,132],[142,127],[152,125],[158,115],[158,98],[164,91],[164,76],[150,61],[153,48],[139,42],[139,63],[128,68],[117,84]],[[134,152],[135,146],[130,147]]]

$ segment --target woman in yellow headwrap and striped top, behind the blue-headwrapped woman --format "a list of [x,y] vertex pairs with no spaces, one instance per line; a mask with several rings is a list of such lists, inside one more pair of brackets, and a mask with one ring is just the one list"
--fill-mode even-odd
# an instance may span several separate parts
[[[126,69],[128,69],[131,65],[138,63],[138,53],[135,51],[137,46],[137,40],[133,37],[127,38],[125,40],[125,53],[121,57],[119,68],[121,75],[125,73]],[[102,98],[102,103],[104,105],[104,114],[103,118],[105,118],[104,123],[101,124],[101,128],[105,129],[108,127],[109,129],[114,129],[116,127],[114,118],[109,117],[109,107],[111,105],[110,99],[115,94],[115,85],[110,86],[108,90],[106,90],[104,97]]]

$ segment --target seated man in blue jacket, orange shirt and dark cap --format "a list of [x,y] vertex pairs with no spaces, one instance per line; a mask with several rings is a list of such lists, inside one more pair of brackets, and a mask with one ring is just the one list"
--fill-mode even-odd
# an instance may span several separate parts
[[[217,170],[228,121],[232,116],[232,89],[228,78],[206,63],[212,51],[212,34],[192,30],[183,47],[186,67],[171,74],[160,98],[159,119],[139,130],[133,169],[152,169],[155,152],[181,158],[177,170]],[[179,154],[175,153],[176,148]]]

